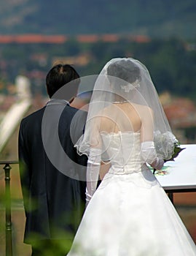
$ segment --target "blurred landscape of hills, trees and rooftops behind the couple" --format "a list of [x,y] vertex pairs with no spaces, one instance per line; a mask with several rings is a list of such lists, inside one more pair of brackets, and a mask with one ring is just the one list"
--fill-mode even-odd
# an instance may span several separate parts
[[[146,65],[173,133],[182,144],[195,144],[195,23],[195,0],[1,0],[0,161],[17,160],[21,118],[47,102],[45,76],[53,64],[72,64],[80,76],[96,75],[115,57]],[[17,165],[11,170],[11,193],[15,255],[28,256]],[[174,203],[196,241],[195,193],[176,193]],[[4,239],[2,199],[1,256]]]

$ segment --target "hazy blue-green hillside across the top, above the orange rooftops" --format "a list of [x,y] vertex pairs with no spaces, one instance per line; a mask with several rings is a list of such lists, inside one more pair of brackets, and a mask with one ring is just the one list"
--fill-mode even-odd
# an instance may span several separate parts
[[1,2],[0,34],[144,34],[195,39],[195,0]]

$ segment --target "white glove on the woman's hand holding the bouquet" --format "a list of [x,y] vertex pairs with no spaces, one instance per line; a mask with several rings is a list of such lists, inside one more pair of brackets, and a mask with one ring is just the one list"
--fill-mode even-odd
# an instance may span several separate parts
[[149,163],[154,169],[160,170],[164,165],[164,159],[157,157],[153,141],[144,141],[141,143],[141,157],[144,162]]

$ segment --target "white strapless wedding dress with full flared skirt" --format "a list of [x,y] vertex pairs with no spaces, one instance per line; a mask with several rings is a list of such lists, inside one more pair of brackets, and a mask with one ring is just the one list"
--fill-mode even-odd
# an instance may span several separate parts
[[85,210],[68,256],[196,255],[164,189],[141,164],[140,134],[110,133],[102,140],[109,145],[111,168]]

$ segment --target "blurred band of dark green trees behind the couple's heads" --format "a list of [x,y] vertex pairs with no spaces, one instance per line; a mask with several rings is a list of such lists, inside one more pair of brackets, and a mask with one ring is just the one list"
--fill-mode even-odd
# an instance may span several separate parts
[[[189,50],[189,44],[193,50]],[[84,66],[74,64],[81,76],[98,74],[109,59],[132,56],[143,62],[149,69],[154,85],[160,94],[169,91],[176,96],[196,96],[196,50],[195,42],[186,42],[177,38],[152,39],[149,42],[138,43],[129,39],[119,39],[117,42],[80,43],[71,39],[64,44],[7,44],[0,45],[1,61],[6,63],[0,67],[1,80],[4,83],[15,83],[15,77],[21,70],[31,80],[33,93],[46,94],[45,75],[51,68],[54,59],[66,59],[71,56],[87,54],[90,61]],[[35,56],[38,58],[36,59]],[[44,56],[44,61],[39,60]],[[72,63],[71,63],[72,64]],[[35,77],[34,73],[39,73]],[[33,74],[33,75],[32,75]],[[6,85],[1,84],[0,92]]]

